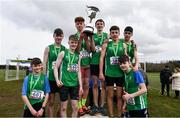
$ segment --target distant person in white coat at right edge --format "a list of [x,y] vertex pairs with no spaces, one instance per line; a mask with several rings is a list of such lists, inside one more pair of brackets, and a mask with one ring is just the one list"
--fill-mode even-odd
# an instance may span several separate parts
[[175,73],[171,76],[172,79],[172,90],[175,90],[175,98],[179,97],[180,87],[178,87],[178,83],[180,83],[180,68],[175,68]]

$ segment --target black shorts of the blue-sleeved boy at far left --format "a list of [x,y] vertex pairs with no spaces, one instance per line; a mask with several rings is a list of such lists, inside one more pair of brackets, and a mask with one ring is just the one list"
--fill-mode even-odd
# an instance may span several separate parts
[[[42,103],[36,103],[36,104],[32,105],[32,107],[33,107],[36,111],[39,111],[39,110],[41,109],[41,107],[42,107]],[[25,109],[25,110],[24,110],[24,115],[23,115],[23,117],[34,117],[34,116],[32,115],[32,113],[30,112],[29,109]],[[45,117],[45,110],[44,110],[44,112],[43,112],[42,117]]]

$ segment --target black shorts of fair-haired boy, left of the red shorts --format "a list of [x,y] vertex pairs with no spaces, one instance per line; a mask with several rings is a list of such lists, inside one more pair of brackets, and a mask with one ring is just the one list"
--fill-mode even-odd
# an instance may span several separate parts
[[70,95],[71,100],[79,100],[79,86],[75,86],[75,87],[62,86],[60,88],[61,101],[64,102],[68,100],[69,95]]

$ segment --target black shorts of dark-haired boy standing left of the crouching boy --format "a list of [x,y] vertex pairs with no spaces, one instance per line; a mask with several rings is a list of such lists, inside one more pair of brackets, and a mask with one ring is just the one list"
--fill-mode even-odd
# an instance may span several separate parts
[[106,86],[116,86],[122,87],[124,84],[124,77],[108,77],[106,76]]

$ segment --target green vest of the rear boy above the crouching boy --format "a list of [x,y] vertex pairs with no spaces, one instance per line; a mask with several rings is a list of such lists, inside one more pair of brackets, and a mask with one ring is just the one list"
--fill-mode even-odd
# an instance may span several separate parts
[[132,44],[132,42],[125,42],[124,39],[120,39],[120,40],[123,41],[127,46],[127,54],[130,57],[131,63],[135,63],[135,60],[134,60],[135,45]]

